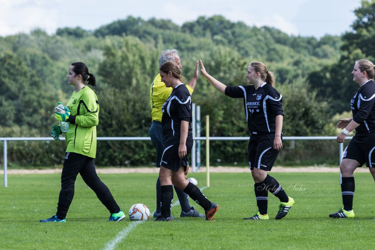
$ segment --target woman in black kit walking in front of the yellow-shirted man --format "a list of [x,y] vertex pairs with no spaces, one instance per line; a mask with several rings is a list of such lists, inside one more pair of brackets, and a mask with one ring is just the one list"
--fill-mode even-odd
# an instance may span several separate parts
[[206,220],[211,220],[219,206],[210,202],[194,184],[185,179],[187,154],[193,146],[190,123],[192,101],[185,85],[181,82],[181,71],[174,62],[163,63],[160,68],[161,81],[172,87],[172,93],[162,106],[162,128],[165,149],[160,162],[161,183],[160,207],[162,216],[156,221],[171,221],[173,186],[183,190],[205,210]]

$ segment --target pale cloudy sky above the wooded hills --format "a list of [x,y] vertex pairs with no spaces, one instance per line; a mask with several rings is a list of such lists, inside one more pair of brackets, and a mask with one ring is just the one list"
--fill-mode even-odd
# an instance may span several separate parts
[[269,26],[295,36],[341,35],[356,19],[361,0],[0,0],[0,36],[41,28],[86,30],[127,16],[170,19],[178,25],[199,16],[222,15],[249,26]]

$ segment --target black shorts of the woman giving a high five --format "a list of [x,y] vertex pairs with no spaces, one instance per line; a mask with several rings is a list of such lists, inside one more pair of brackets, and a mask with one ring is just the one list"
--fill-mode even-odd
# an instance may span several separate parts
[[[281,136],[282,139],[282,136]],[[279,151],[273,148],[275,135],[251,135],[249,139],[249,166],[271,171]]]

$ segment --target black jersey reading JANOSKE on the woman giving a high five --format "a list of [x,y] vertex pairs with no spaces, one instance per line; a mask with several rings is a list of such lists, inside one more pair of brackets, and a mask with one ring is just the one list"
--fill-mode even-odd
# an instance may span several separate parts
[[275,135],[277,115],[284,115],[282,95],[264,82],[258,89],[254,85],[227,86],[225,95],[243,98],[246,122],[253,135]]

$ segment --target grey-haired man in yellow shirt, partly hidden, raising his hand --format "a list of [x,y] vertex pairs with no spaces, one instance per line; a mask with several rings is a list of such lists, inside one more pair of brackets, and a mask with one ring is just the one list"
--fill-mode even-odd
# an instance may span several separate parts
[[[175,49],[167,49],[163,51],[159,56],[159,67],[167,62],[172,61],[178,65],[178,68],[181,69],[181,60],[178,56],[178,52]],[[195,71],[193,78],[187,83],[186,87],[189,90],[190,94],[193,93],[193,90],[196,85],[196,81],[199,78],[199,70],[198,70],[198,61],[195,65]],[[156,148],[156,167],[160,168],[160,160],[162,158],[162,154],[165,147],[165,141],[163,138],[163,131],[162,131],[162,106],[165,103],[166,99],[171,95],[172,88],[165,87],[164,82],[161,81],[160,74],[155,76],[154,81],[151,84],[150,88],[150,106],[151,106],[151,115],[152,115],[152,124],[149,130],[149,135],[152,141],[152,144]],[[186,168],[185,177],[189,167]],[[181,214],[180,217],[205,217],[204,215],[199,214],[198,211],[195,210],[194,207],[191,207],[189,204],[189,196],[184,193],[182,190],[174,188],[176,191],[178,201],[180,201],[181,205]],[[154,217],[161,216],[161,209],[160,209],[160,195],[161,195],[161,185],[160,179],[157,178],[156,181],[156,211],[154,213]]]

